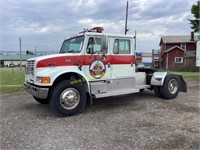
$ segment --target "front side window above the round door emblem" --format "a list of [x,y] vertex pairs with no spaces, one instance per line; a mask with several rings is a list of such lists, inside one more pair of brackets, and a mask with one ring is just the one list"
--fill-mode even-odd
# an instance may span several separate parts
[[87,45],[87,53],[95,54],[101,51],[101,38],[90,37]]

